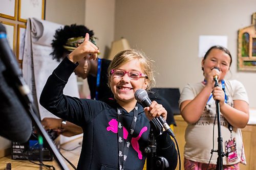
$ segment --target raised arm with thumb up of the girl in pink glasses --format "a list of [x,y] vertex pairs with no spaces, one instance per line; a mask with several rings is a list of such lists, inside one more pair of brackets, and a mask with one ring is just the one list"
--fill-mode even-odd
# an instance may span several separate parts
[[97,47],[89,41],[89,35],[87,34],[84,42],[68,57],[64,58],[53,71],[53,74],[48,78],[40,96],[40,104],[42,106],[60,118],[68,121],[72,120],[70,121],[72,123],[78,124],[78,122],[81,121],[84,108],[90,110],[90,106],[83,104],[81,100],[77,98],[63,95],[63,88],[67,84],[72,72],[77,67],[77,61],[86,57],[88,54],[93,54],[92,57],[95,58],[99,52],[96,49]]

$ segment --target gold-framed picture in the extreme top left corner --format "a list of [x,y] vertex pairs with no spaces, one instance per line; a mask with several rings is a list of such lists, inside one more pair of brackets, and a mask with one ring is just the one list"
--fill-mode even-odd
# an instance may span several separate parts
[[0,17],[16,20],[18,0],[1,0]]

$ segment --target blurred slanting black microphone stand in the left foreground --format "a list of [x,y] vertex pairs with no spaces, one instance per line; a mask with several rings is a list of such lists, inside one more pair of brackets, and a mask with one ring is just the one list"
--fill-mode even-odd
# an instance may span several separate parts
[[[2,48],[10,49],[6,44],[2,44]],[[11,57],[7,57],[11,56]],[[27,110],[27,113],[29,114],[33,124],[36,127],[38,136],[42,136],[47,144],[49,145],[49,149],[53,153],[53,155],[56,158],[56,161],[58,162],[61,169],[69,169],[66,165],[65,161],[61,157],[59,151],[56,148],[56,145],[53,143],[52,139],[49,137],[48,133],[45,131],[44,127],[42,127],[40,120],[36,116],[36,109],[33,105],[33,98],[30,93],[30,90],[27,86],[27,84],[24,81],[24,78],[22,77],[22,71],[20,70],[16,59],[14,58],[14,55],[11,50],[3,51],[3,53],[0,54],[0,57],[5,64],[5,67],[8,71],[10,71],[10,74],[12,75],[13,82],[15,83],[14,91],[17,92],[17,95],[20,97],[20,102],[23,104],[24,108]]]

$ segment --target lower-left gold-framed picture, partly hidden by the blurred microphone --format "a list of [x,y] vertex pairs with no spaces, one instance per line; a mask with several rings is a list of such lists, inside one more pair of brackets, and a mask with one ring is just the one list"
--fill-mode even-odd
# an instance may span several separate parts
[[15,23],[10,23],[6,21],[0,21],[0,22],[5,26],[7,40],[13,51],[13,49],[15,49],[15,41],[16,41],[16,25]]

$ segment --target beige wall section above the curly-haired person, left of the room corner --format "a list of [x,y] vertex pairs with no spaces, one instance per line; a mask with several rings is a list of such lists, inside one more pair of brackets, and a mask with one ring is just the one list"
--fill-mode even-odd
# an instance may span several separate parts
[[46,20],[77,23],[94,31],[100,58],[107,58],[114,40],[115,0],[46,0]]

